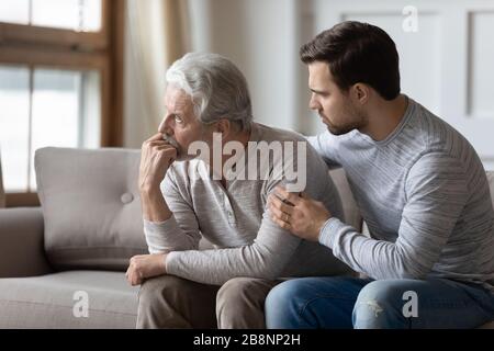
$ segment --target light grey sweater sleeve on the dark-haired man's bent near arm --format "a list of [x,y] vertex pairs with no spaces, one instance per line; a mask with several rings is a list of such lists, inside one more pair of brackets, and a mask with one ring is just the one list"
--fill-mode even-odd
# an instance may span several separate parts
[[373,279],[424,279],[439,261],[467,203],[464,170],[448,155],[427,154],[409,169],[405,194],[395,242],[368,238],[337,218],[322,228],[319,242]]

